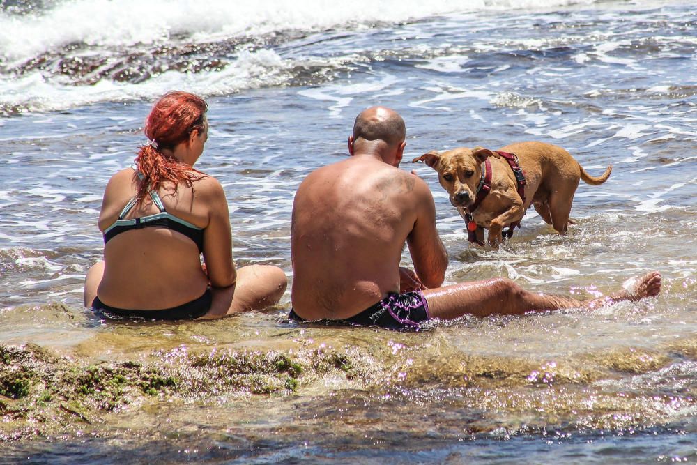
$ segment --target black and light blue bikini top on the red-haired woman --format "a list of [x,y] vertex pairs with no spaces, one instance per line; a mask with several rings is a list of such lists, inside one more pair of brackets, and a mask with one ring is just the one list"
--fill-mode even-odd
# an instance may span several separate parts
[[[143,174],[140,171],[137,171],[137,169],[135,168],[134,170],[142,181],[144,178]],[[136,204],[136,197],[133,197],[132,199],[130,199],[128,204],[126,204],[126,206],[123,207],[123,210],[118,215],[118,220],[116,220],[114,224],[105,229],[104,243],[106,244],[107,242],[109,242],[110,239],[114,238],[114,236],[118,236],[118,234],[121,234],[125,231],[130,231],[132,229],[141,229],[148,227],[165,228],[171,229],[172,231],[177,231],[183,234],[184,236],[187,236],[187,238],[190,238],[192,241],[194,241],[197,247],[199,247],[199,253],[203,252],[204,230],[197,226],[194,226],[194,224],[191,224],[188,221],[182,220],[181,218],[177,218],[176,216],[167,212],[167,209],[164,208],[164,204],[162,203],[162,199],[160,199],[158,192],[151,190],[150,197],[153,199],[155,205],[160,209],[160,213],[155,213],[154,215],[141,216],[140,218],[132,218],[130,220],[124,220],[123,217],[125,217],[125,215],[128,214],[130,209],[133,208],[133,206]]]

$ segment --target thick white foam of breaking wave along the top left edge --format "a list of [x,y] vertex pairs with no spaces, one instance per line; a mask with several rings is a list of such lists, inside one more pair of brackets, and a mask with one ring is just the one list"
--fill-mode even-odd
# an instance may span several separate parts
[[457,11],[593,3],[596,0],[62,1],[49,10],[20,17],[0,13],[0,56],[22,60],[70,43],[123,47],[166,43],[181,35],[204,41],[347,23],[402,22]]

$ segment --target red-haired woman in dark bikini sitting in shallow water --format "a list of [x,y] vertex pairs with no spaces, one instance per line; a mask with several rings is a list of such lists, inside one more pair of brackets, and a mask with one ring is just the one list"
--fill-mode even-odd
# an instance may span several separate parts
[[235,269],[225,193],[194,169],[208,139],[207,110],[179,91],[155,103],[135,166],[107,184],[104,260],[85,277],[86,307],[116,318],[213,319],[280,300],[287,284],[280,268]]

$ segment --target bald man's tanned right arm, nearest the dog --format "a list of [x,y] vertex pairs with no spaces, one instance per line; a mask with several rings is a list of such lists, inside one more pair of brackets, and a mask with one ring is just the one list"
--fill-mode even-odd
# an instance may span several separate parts
[[436,229],[434,197],[421,178],[416,177],[413,195],[417,215],[406,243],[416,274],[427,288],[433,289],[440,287],[445,279],[447,250]]

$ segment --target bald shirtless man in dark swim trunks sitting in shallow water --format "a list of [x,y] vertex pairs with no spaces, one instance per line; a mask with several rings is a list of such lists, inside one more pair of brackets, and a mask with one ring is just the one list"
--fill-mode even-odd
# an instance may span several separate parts
[[[434,318],[592,308],[659,294],[657,272],[636,278],[631,289],[588,301],[530,293],[501,278],[440,287],[447,252],[431,190],[398,168],[405,136],[399,114],[366,109],[348,137],[351,157],[300,184],[291,225],[289,318],[405,329]],[[405,243],[414,271],[399,266]]]

